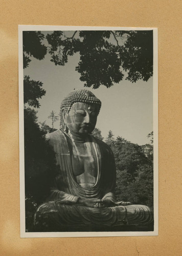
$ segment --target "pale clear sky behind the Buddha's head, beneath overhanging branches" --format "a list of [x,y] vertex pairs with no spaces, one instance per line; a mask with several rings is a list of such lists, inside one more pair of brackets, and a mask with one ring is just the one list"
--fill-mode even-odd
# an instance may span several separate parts
[[[55,66],[49,54],[43,60],[31,59],[24,75],[41,81],[46,91],[45,96],[39,99],[40,108],[36,109],[38,122],[46,121],[52,126],[48,116],[51,111],[59,115],[63,98],[74,89],[87,89],[102,102],[96,127],[101,130],[104,138],[111,130],[115,138],[121,136],[139,145],[149,143],[147,135],[153,131],[152,77],[147,82],[139,80],[136,83],[123,79],[110,88],[100,86],[94,90],[84,88],[84,82],[79,79],[80,74],[75,71],[79,61],[78,53],[70,56],[65,66]],[[54,127],[59,129],[59,121],[54,123]]]

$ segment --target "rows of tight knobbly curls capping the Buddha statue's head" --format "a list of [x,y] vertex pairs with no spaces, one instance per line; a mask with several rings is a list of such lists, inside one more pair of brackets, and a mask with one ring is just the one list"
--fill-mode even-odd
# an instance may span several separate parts
[[[85,89],[74,90],[67,97],[65,97],[61,103],[60,116],[61,116],[61,126],[64,126],[62,114],[69,113],[72,105],[76,102],[97,104],[99,106],[99,111],[101,108],[101,101],[90,91]],[[98,114],[99,114],[98,111]]]

